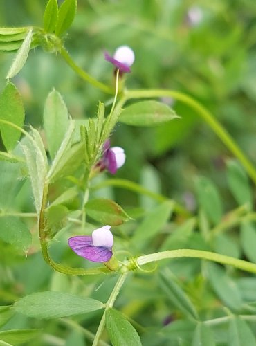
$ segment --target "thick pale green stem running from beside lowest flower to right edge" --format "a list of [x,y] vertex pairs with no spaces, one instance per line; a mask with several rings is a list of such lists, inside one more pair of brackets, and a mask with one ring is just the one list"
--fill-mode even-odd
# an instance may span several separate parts
[[137,258],[138,266],[143,266],[150,262],[156,262],[160,260],[167,260],[170,258],[178,257],[194,257],[201,258],[202,260],[210,260],[213,262],[228,264],[234,266],[235,268],[241,269],[242,271],[248,271],[250,273],[256,274],[256,264],[244,261],[237,260],[237,258],[220,255],[219,253],[212,253],[210,251],[201,251],[201,250],[191,250],[184,248],[181,250],[168,250],[160,253],[151,253],[150,255],[139,256]]

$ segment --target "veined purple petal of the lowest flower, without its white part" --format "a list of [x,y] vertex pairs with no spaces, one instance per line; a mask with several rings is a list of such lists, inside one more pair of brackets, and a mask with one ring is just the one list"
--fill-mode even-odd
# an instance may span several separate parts
[[93,246],[92,237],[77,235],[68,239],[68,245],[79,256],[92,262],[107,262],[112,257],[112,251],[103,246]]

